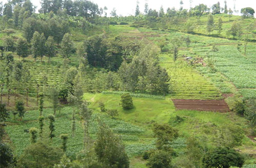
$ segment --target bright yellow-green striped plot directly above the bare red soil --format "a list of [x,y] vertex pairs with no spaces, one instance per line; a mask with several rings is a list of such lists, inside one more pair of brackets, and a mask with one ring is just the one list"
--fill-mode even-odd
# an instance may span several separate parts
[[220,99],[219,90],[184,61],[176,63],[166,54],[160,55],[161,66],[171,77],[175,99]]

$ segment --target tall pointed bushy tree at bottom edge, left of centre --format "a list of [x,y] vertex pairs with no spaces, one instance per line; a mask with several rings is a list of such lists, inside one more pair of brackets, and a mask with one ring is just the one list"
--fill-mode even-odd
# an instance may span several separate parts
[[129,158],[120,138],[109,127],[99,123],[95,151],[99,161],[106,167],[129,167]]

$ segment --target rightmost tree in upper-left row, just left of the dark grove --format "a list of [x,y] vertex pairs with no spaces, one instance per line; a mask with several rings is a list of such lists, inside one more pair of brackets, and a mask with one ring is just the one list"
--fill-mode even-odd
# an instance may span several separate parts
[[71,35],[66,33],[61,41],[61,54],[65,59],[70,58],[72,50],[74,49],[74,43],[71,40]]

